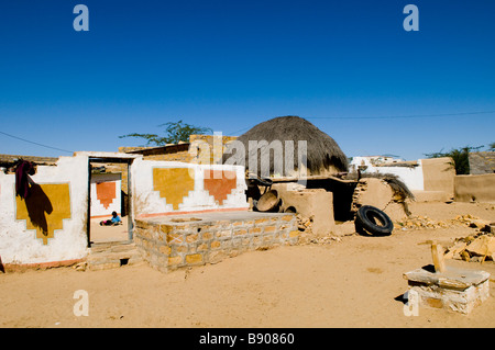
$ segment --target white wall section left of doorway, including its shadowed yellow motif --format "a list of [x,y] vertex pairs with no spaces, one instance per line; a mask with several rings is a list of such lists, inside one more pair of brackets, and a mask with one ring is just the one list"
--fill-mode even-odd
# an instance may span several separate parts
[[37,166],[25,200],[15,174],[0,172],[0,256],[4,264],[58,263],[88,253],[88,157]]

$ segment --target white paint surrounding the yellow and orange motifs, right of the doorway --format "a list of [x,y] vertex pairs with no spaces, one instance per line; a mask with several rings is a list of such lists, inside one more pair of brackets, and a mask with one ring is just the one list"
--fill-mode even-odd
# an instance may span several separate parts
[[[172,204],[160,196],[160,192],[153,189],[153,168],[188,168],[195,177],[195,189],[179,204],[178,211],[174,211]],[[227,196],[222,205],[216,203],[212,195],[204,187],[204,170],[230,170],[237,173],[237,188]],[[178,161],[158,161],[135,159],[131,166],[132,183],[132,211],[134,217],[157,215],[167,213],[212,211],[226,208],[246,210],[249,204],[245,199],[246,184],[244,180],[244,167],[223,165],[193,165]]]

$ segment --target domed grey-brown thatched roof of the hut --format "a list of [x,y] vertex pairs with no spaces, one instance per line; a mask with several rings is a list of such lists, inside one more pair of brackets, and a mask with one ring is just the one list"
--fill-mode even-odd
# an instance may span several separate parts
[[261,177],[332,176],[348,171],[348,158],[336,140],[294,115],[260,123],[239,136],[227,146],[223,162],[243,163]]

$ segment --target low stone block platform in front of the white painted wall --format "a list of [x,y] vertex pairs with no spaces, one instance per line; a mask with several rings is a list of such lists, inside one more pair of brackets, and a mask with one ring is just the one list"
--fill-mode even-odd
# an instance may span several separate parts
[[296,244],[299,235],[294,214],[248,212],[212,219],[138,219],[135,224],[136,247],[144,260],[162,272],[216,263],[244,251]]

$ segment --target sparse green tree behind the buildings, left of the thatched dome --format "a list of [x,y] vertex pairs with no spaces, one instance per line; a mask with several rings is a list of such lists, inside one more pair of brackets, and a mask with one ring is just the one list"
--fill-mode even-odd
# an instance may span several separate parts
[[166,144],[178,144],[179,142],[188,143],[190,135],[204,135],[208,132],[212,133],[212,129],[210,127],[193,126],[190,124],[183,123],[183,121],[160,124],[158,127],[161,126],[166,126],[165,136],[158,136],[156,134],[133,133],[119,136],[119,138],[140,137],[144,138],[147,142],[146,146],[165,146]]

